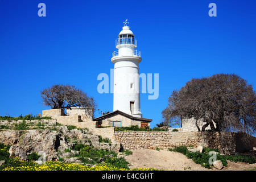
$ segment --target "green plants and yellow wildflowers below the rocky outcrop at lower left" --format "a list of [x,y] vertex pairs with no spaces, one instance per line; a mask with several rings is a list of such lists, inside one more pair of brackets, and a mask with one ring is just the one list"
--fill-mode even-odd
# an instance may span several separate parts
[[[75,154],[79,157],[84,164],[64,163],[62,158],[59,158],[59,162],[47,162],[46,164],[36,164],[34,160],[39,159],[39,155],[36,152],[32,152],[28,155],[28,161],[22,161],[19,158],[9,158],[9,145],[0,143],[0,160],[5,160],[0,170],[128,170],[129,163],[123,158],[117,157],[117,153],[108,150],[98,150],[93,146],[87,144],[76,144],[72,150],[80,151],[79,154]],[[71,152],[67,149],[65,152]],[[130,155],[131,151],[123,151],[123,154]],[[104,162],[104,163],[103,163]],[[85,164],[97,164],[96,167],[88,167]],[[133,169],[142,170],[142,169]],[[149,168],[148,170],[156,170]]]

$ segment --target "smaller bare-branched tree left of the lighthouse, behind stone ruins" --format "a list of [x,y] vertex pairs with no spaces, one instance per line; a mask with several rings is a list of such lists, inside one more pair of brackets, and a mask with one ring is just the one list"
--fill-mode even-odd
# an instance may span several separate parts
[[73,85],[53,85],[41,92],[43,105],[52,109],[71,109],[71,107],[92,107],[96,108],[93,97],[89,97],[82,90]]

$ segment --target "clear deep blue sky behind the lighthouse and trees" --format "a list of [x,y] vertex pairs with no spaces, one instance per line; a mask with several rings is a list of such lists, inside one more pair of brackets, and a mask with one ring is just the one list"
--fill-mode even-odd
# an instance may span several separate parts
[[[46,4],[46,17],[38,4]],[[210,17],[209,3],[217,17]],[[159,73],[159,98],[141,94],[144,118],[159,123],[172,90],[191,78],[236,73],[256,84],[256,1],[0,1],[0,115],[38,114],[40,91],[72,84],[113,111],[100,94],[115,39],[128,19],[142,53],[141,73]],[[96,113],[96,116],[99,116]]]

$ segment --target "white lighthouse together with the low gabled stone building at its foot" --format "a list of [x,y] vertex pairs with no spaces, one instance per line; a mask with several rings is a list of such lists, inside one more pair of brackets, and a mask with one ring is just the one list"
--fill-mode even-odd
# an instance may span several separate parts
[[96,126],[150,127],[152,121],[142,117],[139,90],[141,52],[137,51],[137,39],[127,24],[127,20],[123,22],[122,31],[115,39],[118,50],[113,52],[111,59],[114,63],[113,112],[94,118]]

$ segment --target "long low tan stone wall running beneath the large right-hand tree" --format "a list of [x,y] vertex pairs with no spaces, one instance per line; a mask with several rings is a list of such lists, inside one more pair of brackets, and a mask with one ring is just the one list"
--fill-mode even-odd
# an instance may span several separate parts
[[115,131],[115,141],[124,150],[174,148],[176,146],[208,146],[218,148],[224,154],[234,154],[252,148],[238,146],[236,133],[228,132],[170,132],[170,131]]

